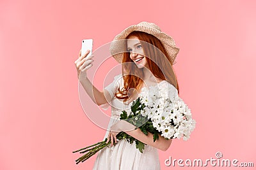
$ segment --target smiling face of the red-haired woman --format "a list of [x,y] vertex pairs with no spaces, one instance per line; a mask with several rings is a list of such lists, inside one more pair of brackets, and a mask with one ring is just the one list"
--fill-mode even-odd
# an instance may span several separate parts
[[148,67],[145,53],[140,43],[140,39],[136,36],[127,37],[127,50],[130,52],[130,59],[133,60],[137,67]]

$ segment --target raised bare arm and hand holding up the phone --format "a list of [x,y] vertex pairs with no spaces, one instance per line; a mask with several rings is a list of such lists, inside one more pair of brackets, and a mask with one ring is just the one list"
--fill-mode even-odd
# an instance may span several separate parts
[[77,78],[88,96],[90,96],[92,99],[93,103],[97,105],[106,104],[108,101],[111,101],[111,95],[109,94],[108,90],[99,91],[87,77],[86,71],[93,66],[93,55],[87,57],[89,53],[90,50],[81,56],[81,50],[79,52],[79,57],[75,61]]

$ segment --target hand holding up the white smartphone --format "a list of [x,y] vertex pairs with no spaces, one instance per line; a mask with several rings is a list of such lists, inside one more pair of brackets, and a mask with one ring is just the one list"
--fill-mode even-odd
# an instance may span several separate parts
[[86,53],[81,56],[81,50],[78,55],[78,59],[75,61],[76,69],[77,69],[77,78],[79,80],[83,78],[87,78],[86,71],[92,67],[93,55],[87,57],[90,53],[90,50],[87,50]]

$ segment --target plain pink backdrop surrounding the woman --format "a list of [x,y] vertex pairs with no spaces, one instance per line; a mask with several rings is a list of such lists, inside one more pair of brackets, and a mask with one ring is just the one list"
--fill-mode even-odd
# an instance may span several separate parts
[[[92,169],[95,156],[76,165],[80,155],[72,153],[105,134],[79,103],[74,61],[81,39],[93,38],[95,50],[141,21],[175,39],[180,97],[196,120],[189,141],[175,139],[159,151],[162,169],[180,168],[164,166],[170,156],[204,160],[218,151],[256,164],[255,7],[242,0],[1,0],[0,169]],[[207,168],[228,169],[185,167]]]

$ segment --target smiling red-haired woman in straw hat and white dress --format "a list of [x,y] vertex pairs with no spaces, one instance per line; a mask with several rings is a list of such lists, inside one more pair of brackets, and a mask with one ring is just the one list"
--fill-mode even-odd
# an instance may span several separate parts
[[[166,151],[172,139],[166,140],[159,136],[154,142],[152,134],[146,136],[140,129],[134,130],[134,125],[119,118],[122,110],[131,108],[132,101],[138,97],[143,87],[157,88],[161,83],[171,83],[173,93],[179,94],[172,69],[179,48],[175,47],[174,40],[161,32],[156,24],[141,22],[118,34],[111,43],[110,51],[122,63],[122,74],[115,76],[113,83],[103,92],[96,89],[86,76],[86,71],[92,67],[93,55],[85,58],[89,52],[84,56],[80,52],[79,59],[75,62],[79,81],[93,102],[102,108],[111,103],[111,121],[105,135],[111,141],[111,146],[100,150],[93,169],[160,169],[157,149]],[[147,144],[143,153],[136,148],[135,143],[116,141],[116,134],[120,131]]]

